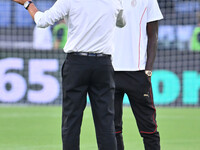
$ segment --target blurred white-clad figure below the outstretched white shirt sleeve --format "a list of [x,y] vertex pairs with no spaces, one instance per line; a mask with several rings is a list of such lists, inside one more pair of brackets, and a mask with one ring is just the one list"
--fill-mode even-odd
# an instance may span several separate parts
[[38,28],[33,30],[33,49],[52,50],[52,32],[50,26],[47,28]]

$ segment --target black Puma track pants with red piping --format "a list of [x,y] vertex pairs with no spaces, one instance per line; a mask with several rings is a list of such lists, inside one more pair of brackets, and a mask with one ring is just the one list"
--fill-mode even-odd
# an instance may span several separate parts
[[144,71],[116,71],[115,130],[118,150],[124,150],[122,137],[123,97],[126,93],[135,116],[145,150],[160,150],[160,136],[157,131],[156,109],[152,87]]

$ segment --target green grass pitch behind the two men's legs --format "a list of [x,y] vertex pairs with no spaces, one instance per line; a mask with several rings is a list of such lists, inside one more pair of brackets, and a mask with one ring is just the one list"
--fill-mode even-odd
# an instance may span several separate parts
[[[144,150],[130,107],[124,107],[126,150]],[[200,150],[199,108],[157,108],[162,150]],[[90,107],[84,112],[81,150],[97,150]],[[61,150],[60,106],[1,106],[0,150]]]

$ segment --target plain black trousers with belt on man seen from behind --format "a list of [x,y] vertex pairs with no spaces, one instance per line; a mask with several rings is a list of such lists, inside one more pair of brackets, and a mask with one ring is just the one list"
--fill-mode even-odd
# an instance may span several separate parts
[[62,67],[63,150],[80,149],[80,130],[87,93],[91,102],[98,149],[116,150],[113,76],[109,56],[67,56]]

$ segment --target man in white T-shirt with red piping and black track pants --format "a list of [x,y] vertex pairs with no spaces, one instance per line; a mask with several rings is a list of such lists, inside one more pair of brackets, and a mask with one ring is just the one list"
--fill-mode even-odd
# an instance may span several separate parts
[[128,95],[145,150],[159,150],[156,109],[151,75],[157,50],[158,20],[162,19],[157,0],[124,0],[126,26],[116,30],[113,66],[115,70],[115,129],[118,150],[122,138],[123,97]]

